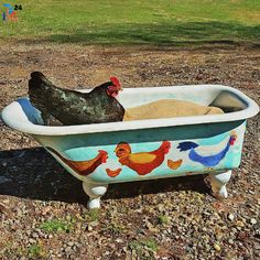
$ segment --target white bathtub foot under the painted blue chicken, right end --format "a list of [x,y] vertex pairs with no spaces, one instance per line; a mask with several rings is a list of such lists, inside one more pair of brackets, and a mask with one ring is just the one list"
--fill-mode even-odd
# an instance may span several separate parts
[[223,173],[209,173],[213,194],[219,198],[226,198],[228,196],[226,184],[231,177],[231,170]]

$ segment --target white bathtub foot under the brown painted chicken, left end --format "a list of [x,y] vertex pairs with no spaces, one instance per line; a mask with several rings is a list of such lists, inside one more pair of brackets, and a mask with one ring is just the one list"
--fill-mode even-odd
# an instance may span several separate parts
[[83,182],[83,189],[89,196],[89,209],[100,207],[100,197],[107,192],[107,184]]

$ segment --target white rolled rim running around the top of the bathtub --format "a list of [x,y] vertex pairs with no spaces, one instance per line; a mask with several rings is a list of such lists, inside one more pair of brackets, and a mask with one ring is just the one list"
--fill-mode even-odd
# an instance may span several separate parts
[[[28,118],[26,120],[19,116],[24,116],[24,111],[18,108],[18,100],[11,102],[3,108],[1,112],[1,119],[3,122],[12,129],[26,132],[29,134],[40,134],[40,136],[69,136],[69,134],[80,134],[80,133],[95,133],[95,132],[113,132],[123,130],[137,130],[137,129],[151,129],[151,128],[163,128],[163,127],[175,127],[175,126],[189,126],[189,124],[201,124],[201,123],[215,123],[215,122],[228,122],[245,120],[256,116],[259,112],[259,106],[247,95],[240,90],[224,86],[224,85],[183,85],[183,86],[162,86],[162,87],[145,87],[145,88],[124,88],[126,93],[137,93],[137,91],[169,91],[170,89],[180,88],[212,88],[219,90],[228,90],[235,94],[247,107],[240,111],[223,113],[223,115],[203,115],[203,116],[192,116],[192,117],[176,117],[176,118],[163,118],[163,119],[145,119],[145,120],[134,120],[134,121],[120,121],[120,122],[106,122],[106,123],[93,123],[93,124],[77,124],[77,126],[58,126],[48,127],[42,124],[35,124],[31,122]],[[90,89],[80,89],[80,91],[87,93]],[[21,99],[21,98],[20,98]],[[28,98],[23,98],[26,99]],[[18,111],[19,112],[14,112]]]

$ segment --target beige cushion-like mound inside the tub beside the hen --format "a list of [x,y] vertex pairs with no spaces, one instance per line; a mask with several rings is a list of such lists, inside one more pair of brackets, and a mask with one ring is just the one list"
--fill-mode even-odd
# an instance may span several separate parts
[[206,107],[189,101],[161,99],[147,105],[127,108],[123,121],[217,113],[224,113],[224,111],[217,107]]

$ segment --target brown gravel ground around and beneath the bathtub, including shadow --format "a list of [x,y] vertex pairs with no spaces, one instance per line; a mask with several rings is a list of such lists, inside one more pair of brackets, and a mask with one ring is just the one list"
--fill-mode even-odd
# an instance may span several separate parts
[[[259,48],[2,43],[0,56],[0,109],[26,95],[32,71],[66,88],[110,75],[123,87],[224,84],[260,104]],[[198,175],[110,185],[93,212],[79,181],[0,123],[0,259],[259,259],[259,121],[248,121],[227,199]]]

